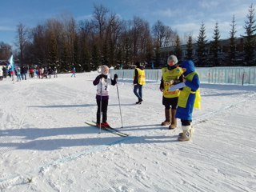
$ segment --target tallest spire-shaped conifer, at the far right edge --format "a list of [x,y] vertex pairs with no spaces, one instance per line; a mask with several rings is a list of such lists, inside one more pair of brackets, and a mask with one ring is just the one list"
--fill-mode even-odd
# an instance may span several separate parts
[[244,45],[245,50],[245,60],[246,65],[250,66],[254,58],[254,49],[255,49],[255,31],[256,31],[256,25],[255,25],[255,18],[254,18],[254,6],[251,4],[249,6],[249,14],[247,14],[246,18],[248,19],[246,21],[246,26],[244,26],[246,30],[246,42]]

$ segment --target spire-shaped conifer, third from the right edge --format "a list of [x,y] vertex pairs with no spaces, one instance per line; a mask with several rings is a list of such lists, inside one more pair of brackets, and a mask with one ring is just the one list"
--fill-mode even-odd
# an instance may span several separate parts
[[215,28],[214,28],[214,41],[211,43],[211,52],[214,56],[213,58],[213,62],[214,62],[214,66],[219,66],[219,62],[218,62],[218,50],[219,50],[219,46],[220,46],[220,42],[219,42],[219,38],[220,38],[220,34],[219,34],[219,30],[218,30],[218,22],[215,23]]

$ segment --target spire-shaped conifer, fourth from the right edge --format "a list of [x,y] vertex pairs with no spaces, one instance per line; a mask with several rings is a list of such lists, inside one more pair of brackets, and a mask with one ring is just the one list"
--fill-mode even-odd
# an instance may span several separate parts
[[206,42],[206,27],[205,24],[202,22],[197,41],[198,66],[204,66],[204,60],[206,58]]

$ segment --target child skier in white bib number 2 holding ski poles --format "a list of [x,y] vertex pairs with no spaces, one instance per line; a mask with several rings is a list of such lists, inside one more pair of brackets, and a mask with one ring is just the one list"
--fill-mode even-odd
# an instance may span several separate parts
[[[114,86],[117,83],[118,75],[114,74],[114,80],[110,78],[109,74],[109,67],[102,66],[102,74],[99,74],[94,80],[94,86],[97,86],[97,94],[96,94],[96,102],[98,106],[97,110],[97,126],[98,127],[108,127],[110,126],[107,120],[107,106],[109,102],[109,89],[110,85]],[[101,120],[102,114],[102,122]]]

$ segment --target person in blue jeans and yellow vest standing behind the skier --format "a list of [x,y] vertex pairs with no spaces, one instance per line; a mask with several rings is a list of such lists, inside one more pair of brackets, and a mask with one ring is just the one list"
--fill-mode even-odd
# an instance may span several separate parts
[[138,98],[136,104],[142,104],[142,86],[146,84],[146,76],[144,67],[139,62],[135,63],[136,68],[134,70],[134,94]]

